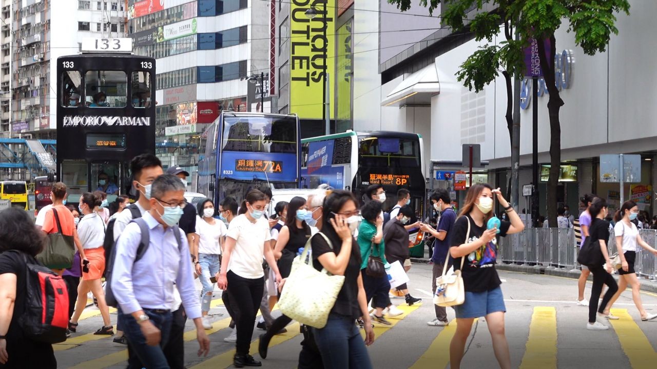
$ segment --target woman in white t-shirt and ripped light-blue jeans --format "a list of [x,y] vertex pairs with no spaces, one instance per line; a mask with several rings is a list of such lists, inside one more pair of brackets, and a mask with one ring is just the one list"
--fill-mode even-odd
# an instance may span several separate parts
[[212,291],[214,283],[210,277],[219,272],[219,255],[221,255],[221,245],[223,238],[228,232],[222,221],[214,219],[214,204],[207,198],[196,206],[198,219],[196,219],[196,234],[199,236],[198,241],[198,262],[196,263],[196,274],[203,286],[201,292],[201,313],[203,315],[203,326],[205,329],[212,329],[212,323],[208,318],[210,311],[210,301],[212,301]]

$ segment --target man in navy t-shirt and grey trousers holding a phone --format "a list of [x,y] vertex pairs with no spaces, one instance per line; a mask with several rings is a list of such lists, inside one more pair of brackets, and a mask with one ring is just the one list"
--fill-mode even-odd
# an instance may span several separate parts
[[[430,200],[436,211],[440,211],[440,220],[436,229],[432,228],[430,225],[422,225],[420,228],[423,232],[428,232],[432,236],[436,237],[434,242],[434,253],[431,257],[431,261],[434,263],[434,271],[431,278],[431,288],[433,293],[436,293],[436,278],[442,276],[443,267],[447,263],[447,268],[451,265],[451,257],[447,259],[447,253],[449,253],[449,246],[451,242],[451,228],[456,221],[456,213],[451,207],[451,200],[449,199],[449,192],[443,188],[435,190],[431,194]],[[445,307],[434,305],[436,309],[436,318],[427,322],[429,326],[444,327],[449,324],[447,322],[447,310]]]

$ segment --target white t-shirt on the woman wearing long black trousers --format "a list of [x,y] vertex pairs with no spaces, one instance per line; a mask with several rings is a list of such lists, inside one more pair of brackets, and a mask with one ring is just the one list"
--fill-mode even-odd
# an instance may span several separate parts
[[227,236],[235,240],[228,270],[242,278],[263,277],[265,242],[271,240],[267,219],[260,218],[252,223],[245,214],[238,215],[228,226]]

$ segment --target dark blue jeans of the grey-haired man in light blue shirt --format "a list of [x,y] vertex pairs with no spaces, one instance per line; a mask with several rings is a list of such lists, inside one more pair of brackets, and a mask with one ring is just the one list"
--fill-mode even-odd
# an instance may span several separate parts
[[169,332],[171,331],[171,312],[156,312],[153,309],[144,309],[144,313],[150,318],[150,322],[154,324],[161,332],[162,339],[160,345],[149,346],[146,344],[146,337],[141,333],[141,327],[137,320],[131,315],[121,314],[120,318],[124,320],[124,334],[130,342],[135,355],[137,356],[137,363],[128,364],[129,369],[169,369],[164,351],[164,345],[169,340]]

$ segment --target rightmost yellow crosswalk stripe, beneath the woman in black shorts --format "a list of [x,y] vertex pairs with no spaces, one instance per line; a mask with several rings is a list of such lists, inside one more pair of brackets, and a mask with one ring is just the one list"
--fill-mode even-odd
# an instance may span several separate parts
[[648,337],[632,316],[627,313],[627,309],[612,309],[611,313],[618,316],[618,320],[609,320],[618,335],[620,345],[629,358],[633,369],[654,368],[657,362],[657,353],[652,349]]

